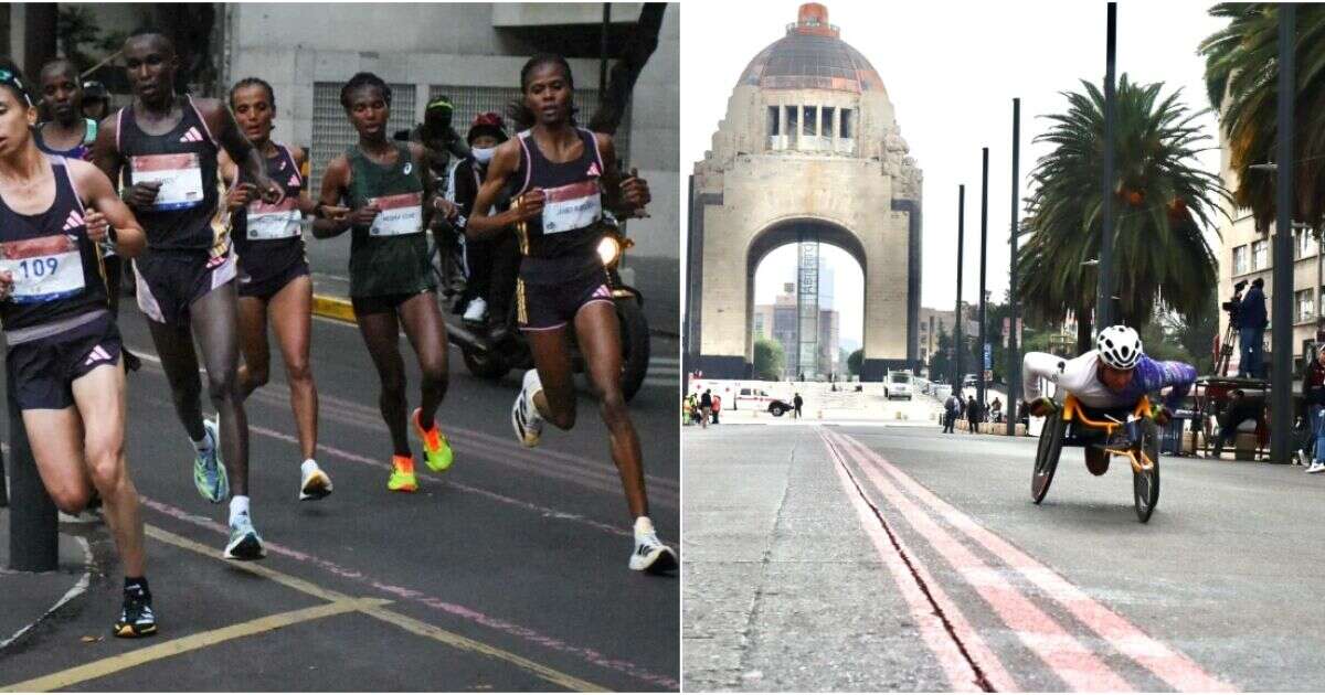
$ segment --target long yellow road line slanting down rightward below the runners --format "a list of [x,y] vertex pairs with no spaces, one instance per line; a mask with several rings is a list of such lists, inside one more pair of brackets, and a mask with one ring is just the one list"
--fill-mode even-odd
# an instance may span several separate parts
[[[144,524],[143,528],[144,528],[144,532],[147,533],[148,537],[160,540],[163,543],[168,543],[171,545],[175,545],[175,547],[186,549],[186,551],[196,552],[196,553],[207,556],[207,557],[213,557],[213,559],[216,557],[216,549],[215,548],[208,548],[207,545],[203,545],[201,543],[197,543],[197,541],[195,541],[192,539],[188,539],[188,537],[184,537],[184,536],[180,536],[180,535],[176,535],[176,533],[171,533],[170,531],[166,531],[163,528],[158,528],[155,526],[147,526],[147,524]],[[331,601],[331,604],[329,604],[329,605],[341,605],[341,604],[350,604],[350,602],[363,604],[363,605],[355,605],[352,608],[352,610],[358,610],[360,613],[366,613],[366,614],[372,616],[374,618],[378,618],[380,621],[390,622],[390,624],[392,624],[392,625],[395,625],[398,627],[401,627],[404,630],[408,630],[411,633],[415,633],[415,634],[419,634],[419,635],[423,635],[423,637],[429,637],[432,639],[436,639],[439,642],[443,642],[445,645],[449,645],[449,646],[452,646],[454,649],[458,649],[458,650],[462,650],[462,651],[473,651],[476,654],[482,654],[485,657],[492,657],[494,659],[505,661],[505,662],[507,662],[507,663],[510,663],[513,666],[517,666],[517,667],[519,667],[519,669],[522,669],[525,671],[529,671],[529,672],[531,672],[531,674],[534,674],[534,675],[542,678],[543,680],[547,680],[549,683],[553,683],[555,686],[562,686],[562,687],[568,688],[568,690],[576,690],[576,691],[584,691],[584,692],[606,692],[607,691],[607,688],[603,688],[602,686],[595,686],[594,683],[590,683],[587,680],[580,680],[580,679],[575,678],[572,675],[563,674],[563,672],[560,672],[560,671],[558,671],[555,669],[550,669],[550,667],[543,666],[541,663],[537,663],[534,661],[526,659],[525,657],[521,657],[518,654],[513,654],[513,653],[506,651],[504,649],[494,647],[492,645],[486,645],[486,643],[478,642],[476,639],[470,639],[468,637],[452,633],[449,630],[444,630],[444,629],[437,627],[435,625],[429,625],[427,622],[423,622],[423,621],[411,618],[408,616],[403,616],[400,613],[396,613],[394,610],[390,610],[387,608],[383,608],[383,606],[391,604],[390,600],[386,600],[386,598],[356,600],[356,598],[352,598],[352,597],[350,597],[347,594],[343,594],[343,593],[339,593],[339,592],[335,592],[335,590],[331,590],[331,589],[325,589],[322,586],[318,586],[317,584],[313,584],[311,581],[306,581],[306,580],[302,580],[299,577],[295,577],[295,576],[292,576],[292,575],[286,575],[285,572],[280,572],[280,571],[272,569],[272,568],[261,565],[261,564],[254,564],[254,563],[227,563],[227,564],[229,564],[231,567],[233,567],[236,569],[240,569],[240,571],[244,571],[244,572],[249,572],[249,573],[257,575],[260,577],[269,579],[272,581],[276,581],[278,584],[282,584],[282,585],[289,586],[292,589],[295,589],[298,592],[306,593],[309,596],[313,596],[313,597],[317,597],[317,598],[322,598],[323,601]],[[62,687],[62,686],[57,686],[57,687]]]

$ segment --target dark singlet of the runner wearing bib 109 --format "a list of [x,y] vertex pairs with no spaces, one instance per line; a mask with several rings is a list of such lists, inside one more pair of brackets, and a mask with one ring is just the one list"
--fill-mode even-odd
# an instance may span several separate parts
[[0,303],[5,331],[106,308],[106,281],[97,245],[87,238],[82,201],[65,158],[48,159],[56,201],[46,212],[20,214],[0,199],[0,270],[13,275],[13,291]]

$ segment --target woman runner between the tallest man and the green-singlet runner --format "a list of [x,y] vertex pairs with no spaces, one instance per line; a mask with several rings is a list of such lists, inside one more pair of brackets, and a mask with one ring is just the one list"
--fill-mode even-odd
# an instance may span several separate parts
[[231,111],[266,162],[266,175],[285,189],[285,200],[280,205],[264,203],[254,195],[253,183],[240,176],[238,167],[225,152],[220,154],[221,179],[232,181],[225,204],[240,257],[240,346],[244,351],[244,365],[238,371],[240,393],[248,398],[269,379],[272,360],[266,319],[270,310],[272,326],[285,359],[285,375],[290,381],[290,405],[303,455],[299,499],[322,499],[331,494],[331,478],[313,458],[318,443],[318,391],[309,361],[313,281],[299,228],[302,214],[311,213],[314,208],[303,187],[309,158],[298,147],[272,142],[272,118],[276,115],[272,85],[256,77],[238,81],[231,87]]

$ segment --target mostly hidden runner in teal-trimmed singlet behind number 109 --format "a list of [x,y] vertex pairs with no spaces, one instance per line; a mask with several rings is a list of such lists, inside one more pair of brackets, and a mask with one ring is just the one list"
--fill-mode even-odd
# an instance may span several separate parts
[[[91,162],[97,120],[87,118],[83,111],[83,87],[78,82],[78,69],[73,62],[56,58],[41,69],[41,99],[52,119],[37,126],[37,147],[53,155]],[[106,277],[106,303],[110,306],[110,312],[118,318],[123,263],[110,248],[102,248],[101,253]],[[142,365],[138,356],[123,347],[121,355],[125,357],[125,368],[130,372],[136,372]]]

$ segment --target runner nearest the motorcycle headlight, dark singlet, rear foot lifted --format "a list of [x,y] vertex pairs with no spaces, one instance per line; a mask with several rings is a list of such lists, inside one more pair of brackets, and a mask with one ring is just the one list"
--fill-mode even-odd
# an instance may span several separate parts
[[[636,176],[623,180],[610,135],[575,126],[575,85],[564,58],[535,56],[519,81],[523,103],[515,120],[533,127],[497,147],[466,230],[482,240],[517,225],[525,254],[515,301],[535,368],[525,372],[511,424],[525,446],[538,446],[545,420],[563,430],[575,426],[567,342],[574,322],[635,519],[629,567],[664,572],[677,559],[659,541],[648,516],[640,440],[621,394],[620,324],[598,255],[604,207],[623,216],[643,209],[649,203],[648,183]],[[511,209],[488,214],[507,185],[515,188]]]

